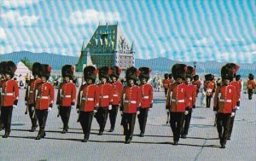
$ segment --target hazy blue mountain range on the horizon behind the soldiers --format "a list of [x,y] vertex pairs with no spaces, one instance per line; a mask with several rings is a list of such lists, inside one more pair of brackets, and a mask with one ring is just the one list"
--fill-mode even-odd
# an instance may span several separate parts
[[[65,64],[75,65],[78,63],[79,57],[66,56],[66,55],[55,55],[49,53],[32,53],[29,51],[13,52],[10,54],[0,55],[0,60],[13,60],[18,63],[20,60],[24,59],[30,60],[31,62],[47,63],[53,67],[54,70],[61,70],[61,67]],[[164,73],[171,72],[171,68],[176,63],[184,63],[188,66],[193,66],[192,62],[180,62],[177,60],[169,60],[167,58],[155,58],[149,60],[136,59],[135,66],[148,66],[152,69],[153,73]],[[225,62],[217,61],[207,61],[207,62],[197,62],[196,72],[200,75],[205,73],[212,73],[219,75],[221,66],[224,66]],[[240,69],[238,74],[241,77],[247,77],[248,73],[253,73],[256,75],[256,63],[253,64],[239,64]]]

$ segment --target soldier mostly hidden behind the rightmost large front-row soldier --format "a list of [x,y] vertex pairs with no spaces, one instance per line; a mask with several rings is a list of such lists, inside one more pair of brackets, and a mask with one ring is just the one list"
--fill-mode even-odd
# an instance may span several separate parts
[[[233,71],[234,71],[234,75],[233,75],[234,77],[233,77],[233,80],[230,82],[230,85],[233,85],[236,88],[236,109],[238,110],[239,108],[238,108],[237,104],[238,104],[238,102],[240,104],[241,82],[234,81],[234,78],[236,78],[236,72],[238,71],[239,66],[234,63],[228,63],[226,66],[232,67]],[[235,111],[234,117],[230,118],[230,130],[229,130],[228,140],[230,140],[230,137],[232,134],[235,117],[236,117],[236,111]]]

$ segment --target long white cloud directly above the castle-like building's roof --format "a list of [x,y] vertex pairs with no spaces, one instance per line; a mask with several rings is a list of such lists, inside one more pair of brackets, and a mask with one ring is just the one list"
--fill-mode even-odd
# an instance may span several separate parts
[[74,25],[84,25],[84,24],[97,24],[101,23],[112,23],[120,21],[120,15],[118,12],[107,12],[96,11],[95,9],[88,9],[84,12],[74,11],[70,14],[69,18],[66,20],[67,23],[72,23]]

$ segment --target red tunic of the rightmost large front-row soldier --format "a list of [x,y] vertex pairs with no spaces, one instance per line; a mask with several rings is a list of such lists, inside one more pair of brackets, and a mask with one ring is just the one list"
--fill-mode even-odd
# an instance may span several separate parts
[[217,110],[220,113],[234,112],[236,109],[236,87],[233,85],[218,87],[213,102],[214,107],[217,106],[218,102]]

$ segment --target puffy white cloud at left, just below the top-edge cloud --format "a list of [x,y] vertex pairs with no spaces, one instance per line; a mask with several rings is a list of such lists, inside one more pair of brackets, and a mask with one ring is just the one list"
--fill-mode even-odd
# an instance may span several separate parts
[[37,15],[20,15],[17,11],[9,11],[1,15],[2,20],[7,21],[13,26],[32,26],[39,20]]

